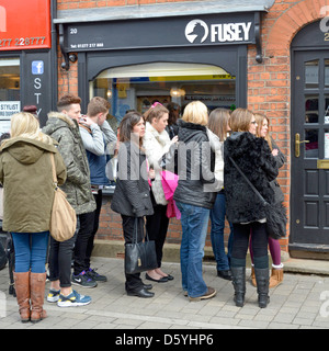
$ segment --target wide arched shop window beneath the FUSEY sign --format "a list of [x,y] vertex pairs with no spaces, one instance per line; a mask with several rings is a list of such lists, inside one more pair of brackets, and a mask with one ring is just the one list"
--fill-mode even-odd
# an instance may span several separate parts
[[236,105],[236,77],[223,68],[198,64],[154,63],[103,70],[90,82],[90,98],[111,102],[111,114],[120,123],[129,110],[144,113],[151,104],[204,102],[209,111]]

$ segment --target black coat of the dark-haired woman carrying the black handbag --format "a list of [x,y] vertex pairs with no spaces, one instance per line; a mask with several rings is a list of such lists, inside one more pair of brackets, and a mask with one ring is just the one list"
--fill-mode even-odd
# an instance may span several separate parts
[[118,150],[117,166],[111,208],[131,217],[152,215],[145,154],[134,143],[123,143]]

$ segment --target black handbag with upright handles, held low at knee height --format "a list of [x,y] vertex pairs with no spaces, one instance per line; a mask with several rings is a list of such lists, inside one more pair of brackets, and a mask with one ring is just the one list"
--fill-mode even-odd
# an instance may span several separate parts
[[138,217],[135,218],[134,237],[132,244],[125,245],[125,272],[126,274],[135,274],[150,271],[158,268],[156,245],[154,240],[149,240],[147,230],[143,224],[143,241],[137,242],[138,235]]

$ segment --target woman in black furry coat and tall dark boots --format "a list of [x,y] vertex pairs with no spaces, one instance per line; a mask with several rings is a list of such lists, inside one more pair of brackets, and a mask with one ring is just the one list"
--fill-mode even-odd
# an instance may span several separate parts
[[224,143],[224,183],[226,214],[234,224],[230,269],[235,303],[241,307],[246,294],[246,256],[250,233],[259,307],[269,303],[269,257],[264,205],[239,173],[231,159],[269,203],[274,201],[270,184],[277,177],[276,161],[269,144],[258,138],[254,115],[245,109],[232,112],[229,125],[232,134]]

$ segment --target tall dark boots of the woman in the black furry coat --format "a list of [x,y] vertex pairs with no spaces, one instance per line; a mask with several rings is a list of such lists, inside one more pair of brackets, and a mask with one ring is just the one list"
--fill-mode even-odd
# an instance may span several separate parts
[[[237,307],[245,305],[246,294],[246,267],[231,267],[232,284],[235,288],[235,303]],[[265,308],[270,302],[269,297],[269,269],[254,268],[257,281],[258,305],[260,308]]]

